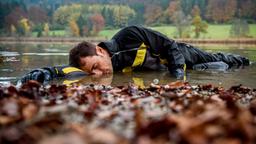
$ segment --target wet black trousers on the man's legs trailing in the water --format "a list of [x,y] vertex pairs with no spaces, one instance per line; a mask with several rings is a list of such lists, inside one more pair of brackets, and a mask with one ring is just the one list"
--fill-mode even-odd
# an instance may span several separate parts
[[248,58],[236,54],[208,53],[185,43],[178,43],[178,46],[185,58],[187,68],[210,62],[224,62],[228,64],[229,68],[250,63]]

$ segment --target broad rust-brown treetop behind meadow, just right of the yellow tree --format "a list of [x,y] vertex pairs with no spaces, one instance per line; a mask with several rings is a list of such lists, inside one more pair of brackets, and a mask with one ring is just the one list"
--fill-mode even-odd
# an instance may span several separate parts
[[236,7],[236,0],[208,0],[207,18],[218,23],[228,22],[235,15]]

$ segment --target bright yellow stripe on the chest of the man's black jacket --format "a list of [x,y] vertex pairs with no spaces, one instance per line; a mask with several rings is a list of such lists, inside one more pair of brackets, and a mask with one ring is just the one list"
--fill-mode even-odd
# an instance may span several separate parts
[[131,67],[126,67],[124,68],[122,71],[123,72],[131,72],[132,68],[137,67],[137,66],[141,66],[145,60],[146,57],[146,53],[147,53],[147,46],[142,43],[139,47],[139,49],[137,50],[136,53],[136,57],[133,61],[133,64]]

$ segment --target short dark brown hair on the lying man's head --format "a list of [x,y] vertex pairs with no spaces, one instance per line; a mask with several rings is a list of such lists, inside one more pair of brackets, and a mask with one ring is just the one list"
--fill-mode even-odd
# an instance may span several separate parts
[[80,67],[80,57],[96,55],[96,45],[83,41],[69,51],[69,65]]

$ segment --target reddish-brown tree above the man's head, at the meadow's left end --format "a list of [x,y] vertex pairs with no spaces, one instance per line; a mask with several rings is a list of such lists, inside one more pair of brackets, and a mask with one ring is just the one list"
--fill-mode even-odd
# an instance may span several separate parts
[[94,14],[90,18],[92,23],[92,35],[97,35],[105,26],[105,20],[101,14]]

